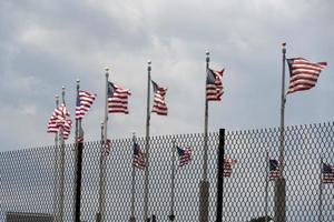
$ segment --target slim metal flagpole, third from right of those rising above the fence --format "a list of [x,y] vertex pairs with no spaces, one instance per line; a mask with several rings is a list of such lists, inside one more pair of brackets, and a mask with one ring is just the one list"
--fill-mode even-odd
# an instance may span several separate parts
[[147,109],[146,109],[146,138],[145,138],[145,152],[146,152],[146,168],[145,168],[145,186],[144,186],[144,221],[149,221],[148,216],[148,173],[149,173],[149,121],[150,121],[150,70],[151,62],[147,62]]

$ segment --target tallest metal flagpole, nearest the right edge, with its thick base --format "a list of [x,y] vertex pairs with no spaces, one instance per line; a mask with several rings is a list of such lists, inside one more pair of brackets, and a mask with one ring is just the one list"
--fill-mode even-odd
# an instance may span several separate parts
[[275,184],[275,222],[285,222],[285,179],[284,171],[284,114],[285,114],[285,60],[286,43],[282,44],[282,94],[281,94],[281,128],[279,128],[279,178]]

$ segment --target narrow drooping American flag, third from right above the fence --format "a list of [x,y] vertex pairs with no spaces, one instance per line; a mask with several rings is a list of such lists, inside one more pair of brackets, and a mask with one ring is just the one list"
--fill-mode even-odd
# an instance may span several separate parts
[[151,81],[154,85],[155,99],[151,112],[159,115],[167,115],[168,109],[165,102],[167,88],[159,87],[156,82]]

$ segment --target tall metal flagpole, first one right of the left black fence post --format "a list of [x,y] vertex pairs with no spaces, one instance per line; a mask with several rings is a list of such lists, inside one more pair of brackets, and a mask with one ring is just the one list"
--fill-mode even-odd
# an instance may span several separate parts
[[105,100],[105,120],[104,120],[104,139],[100,151],[100,181],[99,181],[99,212],[98,222],[105,221],[105,209],[106,209],[106,148],[107,148],[107,129],[108,129],[108,79],[109,68],[106,68],[106,100]]

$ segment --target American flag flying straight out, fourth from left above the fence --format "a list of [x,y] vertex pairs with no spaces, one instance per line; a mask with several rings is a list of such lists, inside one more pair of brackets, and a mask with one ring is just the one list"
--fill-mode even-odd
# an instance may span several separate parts
[[128,114],[128,99],[131,91],[108,82],[108,112]]

